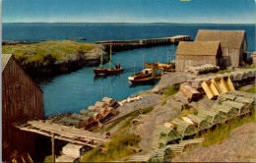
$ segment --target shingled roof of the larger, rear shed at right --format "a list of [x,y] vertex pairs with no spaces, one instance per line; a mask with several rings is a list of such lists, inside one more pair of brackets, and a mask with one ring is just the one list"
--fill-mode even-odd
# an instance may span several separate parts
[[220,41],[222,47],[239,49],[245,30],[206,30],[199,29],[195,41]]

